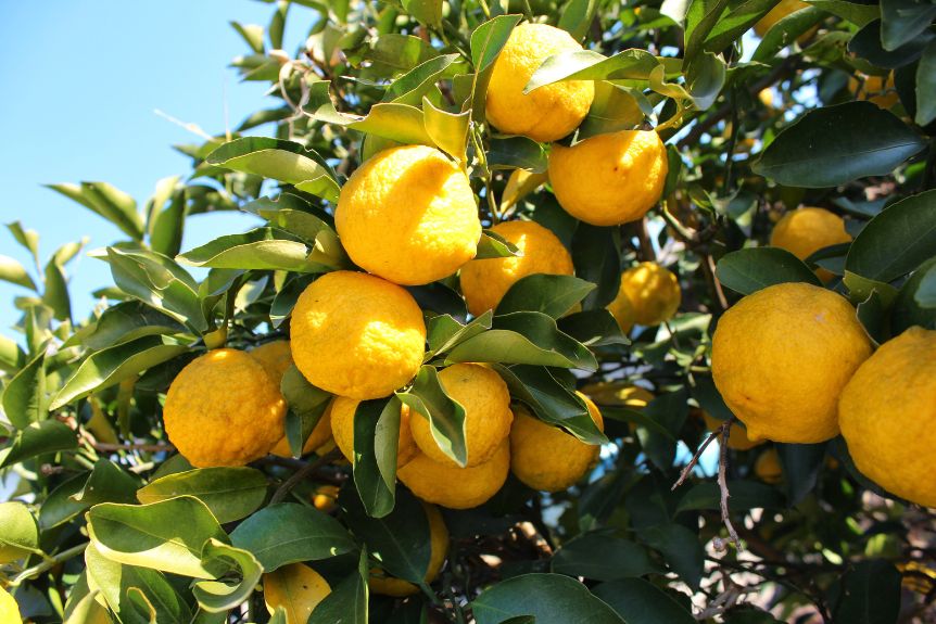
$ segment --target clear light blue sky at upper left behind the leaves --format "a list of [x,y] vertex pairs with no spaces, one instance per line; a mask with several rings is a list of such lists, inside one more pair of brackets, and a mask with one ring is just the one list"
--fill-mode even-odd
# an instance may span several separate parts
[[[106,181],[142,204],[160,178],[187,175],[189,160],[172,145],[198,138],[154,111],[216,133],[225,130],[225,107],[236,127],[273,103],[263,84],[240,82],[228,66],[248,52],[228,22],[266,25],[273,10],[251,0],[0,3],[0,222],[20,220],[37,230],[43,258],[84,235],[87,249],[117,240],[115,227],[42,184]],[[313,16],[290,9],[289,53]],[[253,222],[245,215],[193,217],[184,249]],[[28,267],[26,251],[0,229],[0,254]],[[68,272],[72,306],[81,318],[94,304],[91,291],[111,283],[110,271],[83,254]],[[0,282],[0,333],[10,338],[16,338],[10,326],[20,316],[12,303],[20,294],[27,291]]]

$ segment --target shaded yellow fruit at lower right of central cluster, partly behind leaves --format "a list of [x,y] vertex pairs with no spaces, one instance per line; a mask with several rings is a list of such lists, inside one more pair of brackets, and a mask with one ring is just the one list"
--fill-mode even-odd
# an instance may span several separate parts
[[[592,399],[578,393],[592,420],[604,431],[602,413]],[[510,430],[510,470],[533,489],[559,492],[578,483],[598,461],[600,446],[585,444],[571,433],[533,417],[516,406]]]

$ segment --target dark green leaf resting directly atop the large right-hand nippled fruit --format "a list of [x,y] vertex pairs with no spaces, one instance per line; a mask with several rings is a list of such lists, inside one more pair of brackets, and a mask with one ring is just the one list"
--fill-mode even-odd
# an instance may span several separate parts
[[748,247],[725,254],[716,275],[722,285],[744,295],[787,282],[822,285],[802,260],[780,247]]

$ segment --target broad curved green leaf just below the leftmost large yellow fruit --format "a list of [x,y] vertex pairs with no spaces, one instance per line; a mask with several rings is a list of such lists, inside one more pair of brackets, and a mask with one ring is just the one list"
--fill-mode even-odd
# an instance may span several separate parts
[[192,496],[204,502],[218,522],[246,518],[263,505],[266,477],[253,468],[202,468],[156,479],[137,492],[140,502]]

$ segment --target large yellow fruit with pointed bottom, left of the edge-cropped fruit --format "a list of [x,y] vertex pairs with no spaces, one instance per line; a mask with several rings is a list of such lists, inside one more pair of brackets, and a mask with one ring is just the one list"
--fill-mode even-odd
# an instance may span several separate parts
[[871,341],[843,296],[783,283],[721,317],[711,370],[750,440],[810,444],[838,433],[838,396],[870,355]]

